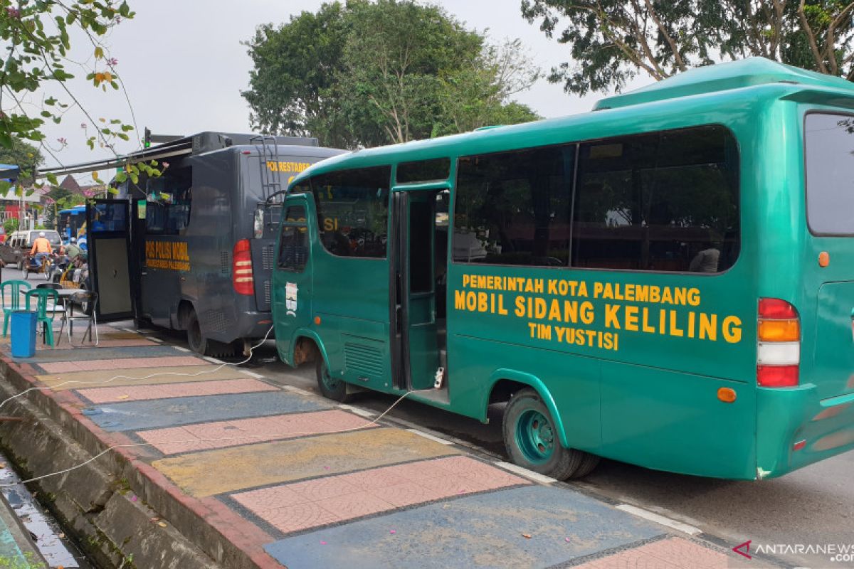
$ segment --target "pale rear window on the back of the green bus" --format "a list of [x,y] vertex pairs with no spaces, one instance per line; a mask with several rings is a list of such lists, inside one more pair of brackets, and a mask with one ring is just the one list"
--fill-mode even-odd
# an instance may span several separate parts
[[810,230],[854,234],[854,116],[809,113],[804,118],[806,212]]

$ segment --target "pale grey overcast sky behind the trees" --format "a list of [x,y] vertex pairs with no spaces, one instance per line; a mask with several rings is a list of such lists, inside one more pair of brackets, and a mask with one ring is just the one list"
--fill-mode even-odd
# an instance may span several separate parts
[[[249,132],[249,107],[240,96],[249,84],[252,61],[240,44],[254,35],[260,24],[280,24],[303,10],[316,11],[320,0],[135,0],[130,2],[137,15],[117,26],[106,40],[108,55],[118,60],[116,71],[123,79],[132,103],[136,125],[147,126],[155,134],[190,135],[200,131]],[[468,28],[487,30],[488,37],[521,38],[529,55],[547,72],[568,59],[569,48],[549,40],[537,25],[529,25],[521,14],[518,0],[437,0],[447,12]],[[85,60],[91,46],[78,41],[73,56]],[[74,70],[71,70],[74,72]],[[80,76],[84,73],[76,73]],[[648,78],[635,85],[649,83]],[[103,93],[91,84],[75,80],[70,84],[92,119],[120,118],[131,122],[131,113],[120,91]],[[48,95],[52,93],[47,93]],[[39,93],[39,99],[43,93]],[[57,97],[67,100],[61,93]],[[544,117],[583,113],[600,96],[578,98],[566,95],[562,86],[541,79],[518,95],[517,100]],[[89,150],[82,124],[89,119],[79,110],[67,113],[61,125],[50,125],[47,142],[60,148],[46,156],[45,165],[74,164],[108,158],[105,149]],[[91,128],[90,128],[91,131]],[[136,146],[117,148],[129,152]]]

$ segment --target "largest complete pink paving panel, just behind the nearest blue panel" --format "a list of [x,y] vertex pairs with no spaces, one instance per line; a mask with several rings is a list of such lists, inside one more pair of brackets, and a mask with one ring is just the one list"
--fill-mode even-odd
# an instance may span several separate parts
[[[424,478],[424,473],[430,477]],[[231,497],[288,533],[521,484],[529,482],[472,458],[453,456],[238,492]]]

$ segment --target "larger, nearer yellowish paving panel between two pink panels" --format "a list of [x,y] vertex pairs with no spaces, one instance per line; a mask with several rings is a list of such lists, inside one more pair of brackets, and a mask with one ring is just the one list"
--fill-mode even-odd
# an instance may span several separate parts
[[402,429],[297,438],[207,450],[153,462],[192,496],[213,496],[292,480],[459,454]]

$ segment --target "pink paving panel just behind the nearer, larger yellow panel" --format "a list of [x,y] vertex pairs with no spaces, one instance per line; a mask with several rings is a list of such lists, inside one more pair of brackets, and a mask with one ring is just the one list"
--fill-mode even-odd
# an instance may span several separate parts
[[[219,380],[215,383],[223,383]],[[121,388],[119,388],[121,389]],[[339,417],[338,415],[346,415]],[[262,443],[281,438],[305,437],[320,433],[340,433],[348,428],[374,428],[371,421],[357,418],[354,423],[347,412],[340,409],[315,411],[313,413],[295,413],[293,415],[274,415],[272,417],[253,417],[232,421],[214,421],[185,425],[187,434],[198,440],[188,438],[168,438],[161,433],[172,429],[152,429],[137,433],[144,441],[151,443],[165,455],[178,452],[190,452],[202,449],[224,449],[238,444]],[[351,425],[354,427],[339,427]]]

